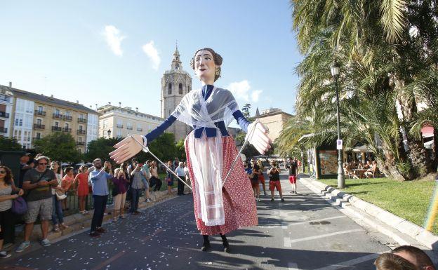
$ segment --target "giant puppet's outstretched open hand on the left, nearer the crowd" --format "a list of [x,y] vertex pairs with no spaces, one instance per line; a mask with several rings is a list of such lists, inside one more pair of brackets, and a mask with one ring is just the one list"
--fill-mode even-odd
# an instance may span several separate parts
[[[137,142],[135,142],[135,140]],[[114,159],[117,164],[126,161],[131,156],[135,156],[139,151],[142,150],[143,137],[142,135],[130,135],[121,142],[114,145],[115,149],[110,153],[110,158]]]

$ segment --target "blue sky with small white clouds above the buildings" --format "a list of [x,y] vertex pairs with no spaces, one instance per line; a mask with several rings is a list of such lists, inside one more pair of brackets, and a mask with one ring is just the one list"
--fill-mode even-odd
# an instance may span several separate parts
[[240,106],[293,113],[301,57],[287,0],[3,1],[0,84],[76,102],[160,115],[161,77],[178,40],[183,69],[197,48],[223,56]]

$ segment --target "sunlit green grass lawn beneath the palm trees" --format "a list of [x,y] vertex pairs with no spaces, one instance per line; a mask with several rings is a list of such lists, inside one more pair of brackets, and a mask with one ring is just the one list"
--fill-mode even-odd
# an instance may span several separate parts
[[[337,186],[336,179],[319,181]],[[389,178],[347,179],[343,191],[423,227],[434,184],[434,181],[397,182]],[[437,218],[432,232],[438,234]]]

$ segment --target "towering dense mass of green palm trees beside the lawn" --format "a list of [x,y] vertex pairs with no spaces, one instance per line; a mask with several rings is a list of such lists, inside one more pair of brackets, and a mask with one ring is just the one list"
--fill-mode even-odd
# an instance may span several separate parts
[[[309,3],[291,1],[305,55],[296,69],[301,77],[296,107],[298,115],[312,120],[315,133],[307,142],[336,137],[335,89],[328,72],[336,55],[342,66],[343,139],[365,141],[379,168],[396,178],[430,172],[420,128],[437,127],[437,1]],[[420,103],[428,108],[419,111]]]

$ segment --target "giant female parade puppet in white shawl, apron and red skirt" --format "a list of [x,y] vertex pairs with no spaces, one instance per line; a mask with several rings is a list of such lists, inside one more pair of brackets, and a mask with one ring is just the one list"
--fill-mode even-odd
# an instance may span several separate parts
[[[226,234],[258,224],[251,182],[227,126],[233,119],[244,130],[246,141],[260,154],[270,149],[267,128],[250,123],[239,110],[229,90],[213,83],[220,78],[222,57],[211,48],[197,50],[190,64],[202,83],[187,93],[171,116],[147,135],[130,135],[115,144],[110,156],[117,163],[126,161],[164,133],[175,120],[191,126],[185,138],[187,167],[193,189],[194,217],[203,236],[201,250],[210,248],[208,236],[220,234],[225,252],[230,252]],[[151,153],[152,154],[152,153]]]

